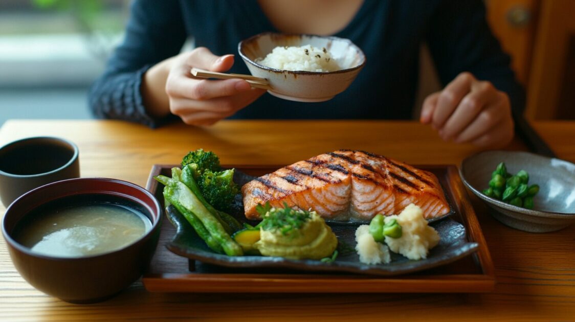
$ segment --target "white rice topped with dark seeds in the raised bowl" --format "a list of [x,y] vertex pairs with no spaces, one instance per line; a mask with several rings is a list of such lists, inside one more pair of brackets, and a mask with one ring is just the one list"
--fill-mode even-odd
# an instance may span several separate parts
[[256,60],[256,63],[289,71],[329,72],[340,69],[325,48],[315,48],[311,45],[275,47],[264,59]]

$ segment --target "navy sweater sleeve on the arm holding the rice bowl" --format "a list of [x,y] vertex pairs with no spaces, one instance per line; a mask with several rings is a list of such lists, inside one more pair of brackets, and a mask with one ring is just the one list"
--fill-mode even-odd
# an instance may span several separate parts
[[142,76],[154,64],[177,55],[185,40],[177,0],[134,1],[122,44],[90,88],[94,115],[157,127],[164,120],[147,112],[140,91]]

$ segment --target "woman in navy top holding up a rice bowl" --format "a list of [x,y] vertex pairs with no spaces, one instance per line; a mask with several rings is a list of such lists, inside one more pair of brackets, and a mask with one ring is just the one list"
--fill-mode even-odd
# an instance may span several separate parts
[[[194,79],[191,67],[248,74],[237,43],[260,32],[335,35],[352,40],[366,67],[343,93],[298,103],[251,89],[246,81]],[[193,37],[196,49],[183,51]],[[481,0],[136,0],[124,43],[90,91],[101,117],[155,127],[223,118],[407,119],[427,43],[446,87],[431,94],[421,122],[444,140],[501,147],[524,106],[509,57],[490,33]]]

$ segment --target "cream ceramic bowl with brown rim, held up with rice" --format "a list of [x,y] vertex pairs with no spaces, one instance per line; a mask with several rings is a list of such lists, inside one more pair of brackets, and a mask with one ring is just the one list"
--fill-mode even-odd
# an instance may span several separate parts
[[[312,45],[325,48],[341,70],[333,72],[286,71],[262,66],[263,59],[275,47]],[[240,41],[238,51],[251,74],[266,78],[279,98],[298,102],[323,102],[342,93],[365,66],[365,55],[350,40],[308,34],[260,33]]]

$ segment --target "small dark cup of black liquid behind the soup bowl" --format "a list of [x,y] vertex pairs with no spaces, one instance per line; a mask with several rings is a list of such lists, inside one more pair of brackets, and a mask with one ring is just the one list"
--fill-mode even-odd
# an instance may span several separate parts
[[46,183],[80,177],[78,147],[58,137],[29,137],[0,148],[0,199],[7,207]]

